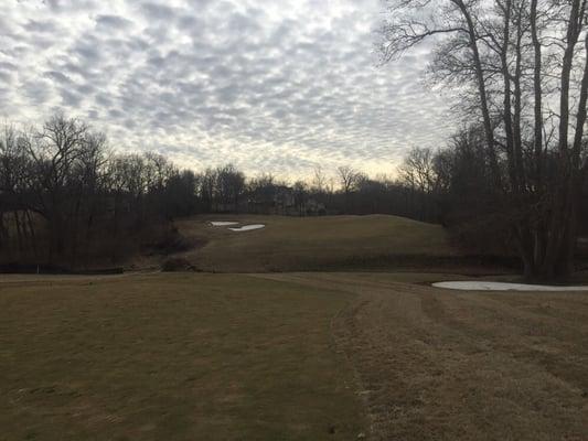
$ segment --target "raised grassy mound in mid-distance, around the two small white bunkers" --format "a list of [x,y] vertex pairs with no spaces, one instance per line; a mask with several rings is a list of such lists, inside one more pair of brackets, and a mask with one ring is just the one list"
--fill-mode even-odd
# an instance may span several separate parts
[[[245,233],[209,220],[266,224]],[[206,245],[186,254],[205,271],[290,271],[373,268],[410,256],[455,255],[439,225],[397,216],[195,216],[177,222],[184,236]],[[398,261],[395,261],[396,263]]]

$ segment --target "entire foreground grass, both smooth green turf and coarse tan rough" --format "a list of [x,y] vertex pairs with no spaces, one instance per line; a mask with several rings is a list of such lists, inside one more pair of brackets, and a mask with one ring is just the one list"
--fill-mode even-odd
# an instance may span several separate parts
[[588,294],[460,279],[4,277],[0,440],[585,440]]

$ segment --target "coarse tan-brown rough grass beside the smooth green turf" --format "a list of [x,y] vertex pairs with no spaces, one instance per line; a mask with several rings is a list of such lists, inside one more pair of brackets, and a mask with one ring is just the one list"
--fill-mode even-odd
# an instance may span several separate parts
[[334,320],[375,440],[588,440],[588,294],[266,275],[356,300]]

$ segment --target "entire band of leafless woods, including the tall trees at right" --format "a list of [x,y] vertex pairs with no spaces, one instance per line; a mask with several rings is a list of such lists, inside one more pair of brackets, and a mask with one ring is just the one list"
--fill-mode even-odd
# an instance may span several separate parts
[[115,262],[145,241],[181,247],[171,220],[196,213],[382,213],[442,223],[477,254],[517,254],[528,279],[566,278],[588,224],[586,7],[389,1],[383,62],[431,39],[429,79],[459,95],[463,121],[440,140],[447,147],[414,148],[396,179],[350,166],[295,183],[231,164],[194,172],[157,153],[115,154],[104,133],[63,115],[41,128],[8,125],[2,258]]

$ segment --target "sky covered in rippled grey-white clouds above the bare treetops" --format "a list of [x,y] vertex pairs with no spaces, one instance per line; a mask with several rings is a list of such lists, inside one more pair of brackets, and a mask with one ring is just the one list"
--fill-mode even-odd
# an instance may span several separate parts
[[304,176],[391,173],[451,127],[427,51],[377,66],[381,0],[3,0],[0,117],[87,119],[120,151]]

